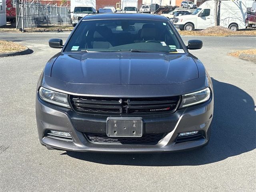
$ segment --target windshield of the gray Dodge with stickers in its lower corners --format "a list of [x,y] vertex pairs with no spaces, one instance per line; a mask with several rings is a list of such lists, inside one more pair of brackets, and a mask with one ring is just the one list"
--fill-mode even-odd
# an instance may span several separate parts
[[140,19],[83,20],[64,51],[177,52],[182,44],[168,22]]

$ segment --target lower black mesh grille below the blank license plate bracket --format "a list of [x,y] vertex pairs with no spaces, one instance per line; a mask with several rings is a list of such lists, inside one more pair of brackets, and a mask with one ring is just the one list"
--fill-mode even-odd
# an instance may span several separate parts
[[106,134],[96,133],[85,133],[85,136],[93,143],[154,145],[164,137],[164,133],[144,134],[142,137],[108,137]]

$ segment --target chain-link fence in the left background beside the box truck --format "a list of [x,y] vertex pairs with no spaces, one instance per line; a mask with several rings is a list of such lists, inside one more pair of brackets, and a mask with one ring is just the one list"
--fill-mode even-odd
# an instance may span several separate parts
[[70,25],[71,16],[68,6],[43,5],[37,2],[17,1],[16,8],[16,28],[35,28],[41,25]]

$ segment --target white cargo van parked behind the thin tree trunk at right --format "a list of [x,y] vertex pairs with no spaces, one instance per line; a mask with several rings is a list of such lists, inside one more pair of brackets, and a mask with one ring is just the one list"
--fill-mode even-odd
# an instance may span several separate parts
[[[233,31],[246,28],[246,2],[248,1],[221,1],[220,2],[220,26],[230,28]],[[205,29],[215,26],[214,0],[206,1],[192,14],[176,17],[174,26],[180,30]]]

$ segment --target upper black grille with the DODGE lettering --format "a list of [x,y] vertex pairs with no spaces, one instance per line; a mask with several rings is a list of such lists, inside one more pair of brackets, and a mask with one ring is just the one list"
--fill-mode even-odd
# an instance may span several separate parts
[[99,115],[152,115],[174,112],[180,96],[157,98],[102,98],[70,96],[70,103],[78,113]]

